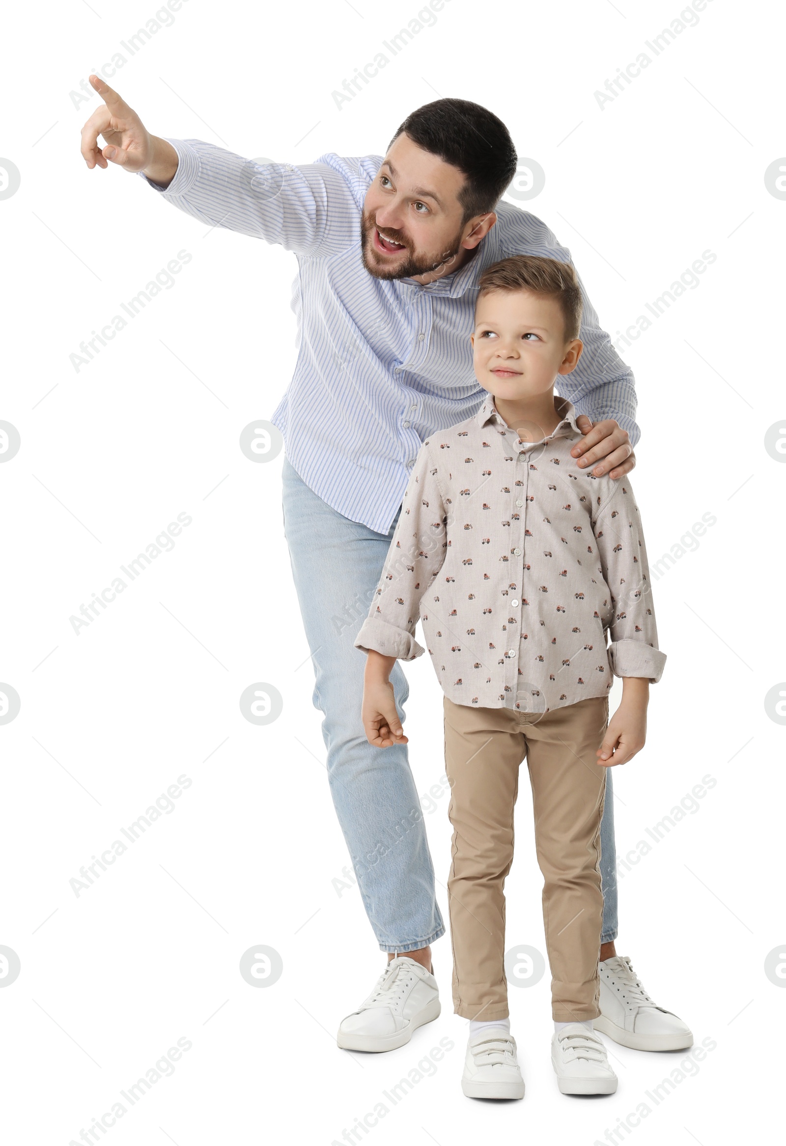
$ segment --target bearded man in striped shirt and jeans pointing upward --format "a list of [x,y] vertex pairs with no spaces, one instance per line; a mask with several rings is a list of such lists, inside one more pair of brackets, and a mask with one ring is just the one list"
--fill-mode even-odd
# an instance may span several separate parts
[[[284,531],[313,650],[313,701],[324,713],[331,795],[369,921],[388,953],[338,1042],[401,1046],[439,1014],[431,943],[445,926],[406,744],[383,752],[368,743],[366,658],[353,642],[422,441],[469,417],[486,397],[470,344],[480,273],[509,254],[565,262],[569,252],[540,219],[501,202],[516,150],[504,124],[466,100],[437,100],[412,112],[384,159],[328,152],[314,164],[260,166],[198,140],[150,135],[103,80],[89,81],[104,100],[82,128],[89,168],[112,163],[139,173],[202,222],[278,243],[298,258],[299,355],[272,417],[285,442]],[[584,353],[564,387],[585,434],[574,456],[619,478],[635,464],[634,379],[583,288],[582,297]],[[409,690],[398,665],[391,683],[403,719]],[[690,1046],[686,1026],[655,1007],[614,950],[611,775],[607,783],[604,1018],[596,1026],[643,1050]]]

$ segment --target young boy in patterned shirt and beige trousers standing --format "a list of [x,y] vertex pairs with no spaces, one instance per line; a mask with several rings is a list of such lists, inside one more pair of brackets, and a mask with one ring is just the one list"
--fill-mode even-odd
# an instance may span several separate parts
[[[544,878],[558,1085],[568,1094],[616,1090],[592,1030],[605,769],[643,747],[649,685],[666,657],[630,482],[577,465],[574,408],[553,393],[581,355],[580,324],[569,265],[514,256],[482,274],[472,346],[489,397],[472,418],[423,442],[355,639],[368,654],[362,719],[371,744],[407,741],[388,675],[396,658],[424,652],[418,614],[445,692],[453,996],[470,1020],[462,1089],[473,1098],[524,1097],[503,893],[524,759]],[[614,675],[623,691],[610,722]]]

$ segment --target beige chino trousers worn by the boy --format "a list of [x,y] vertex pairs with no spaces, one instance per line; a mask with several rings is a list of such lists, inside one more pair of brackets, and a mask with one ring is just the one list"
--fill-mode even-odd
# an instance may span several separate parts
[[513,806],[526,759],[543,873],[543,925],[552,1017],[600,1014],[600,819],[606,769],[596,763],[608,697],[545,713],[474,708],[443,697],[453,862],[448,877],[453,999],[465,1019],[505,1019],[505,877]]

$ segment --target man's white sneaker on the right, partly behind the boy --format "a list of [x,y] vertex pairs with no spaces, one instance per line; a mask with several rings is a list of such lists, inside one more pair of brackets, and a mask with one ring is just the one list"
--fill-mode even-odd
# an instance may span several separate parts
[[682,1051],[693,1045],[687,1025],[652,1002],[627,955],[600,964],[600,1017],[595,1029],[635,1051]]

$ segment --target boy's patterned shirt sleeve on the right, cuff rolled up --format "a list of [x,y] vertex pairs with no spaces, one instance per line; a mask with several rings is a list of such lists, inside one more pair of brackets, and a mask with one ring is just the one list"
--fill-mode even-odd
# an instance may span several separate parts
[[666,653],[658,647],[644,531],[627,477],[607,478],[607,496],[594,521],[603,574],[612,594],[608,660],[615,676],[660,681]]

